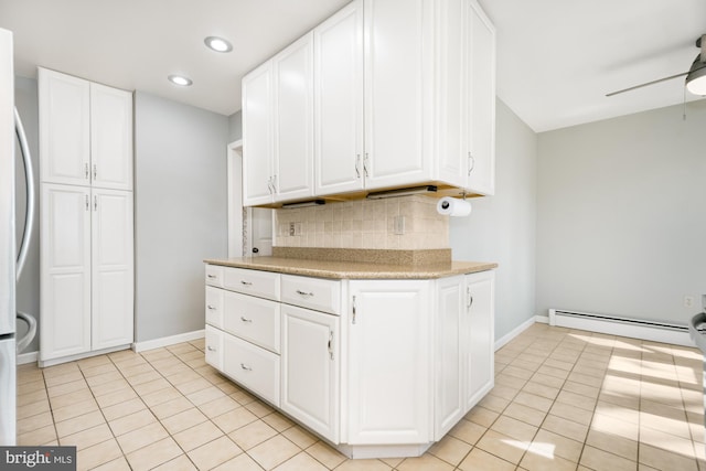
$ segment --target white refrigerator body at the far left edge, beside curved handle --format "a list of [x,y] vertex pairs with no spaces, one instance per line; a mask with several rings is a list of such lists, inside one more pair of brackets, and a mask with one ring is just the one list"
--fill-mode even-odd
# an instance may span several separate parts
[[0,29],[0,446],[17,441],[14,165],[12,33]]

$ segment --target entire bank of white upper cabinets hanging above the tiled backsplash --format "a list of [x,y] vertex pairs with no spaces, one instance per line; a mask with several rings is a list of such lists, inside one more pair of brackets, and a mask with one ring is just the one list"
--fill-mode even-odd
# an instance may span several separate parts
[[493,193],[495,31],[475,0],[354,0],[267,64],[243,81],[246,205]]

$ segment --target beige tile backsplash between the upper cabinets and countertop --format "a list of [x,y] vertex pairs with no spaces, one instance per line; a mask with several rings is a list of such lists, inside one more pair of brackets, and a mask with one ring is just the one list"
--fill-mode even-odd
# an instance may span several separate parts
[[356,200],[275,212],[275,246],[335,248],[449,248],[449,218],[437,200],[399,196]]

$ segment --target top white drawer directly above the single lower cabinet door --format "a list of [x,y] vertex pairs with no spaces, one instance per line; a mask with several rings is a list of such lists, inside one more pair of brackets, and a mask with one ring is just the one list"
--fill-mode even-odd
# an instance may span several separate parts
[[281,301],[317,311],[341,313],[341,282],[282,275]]

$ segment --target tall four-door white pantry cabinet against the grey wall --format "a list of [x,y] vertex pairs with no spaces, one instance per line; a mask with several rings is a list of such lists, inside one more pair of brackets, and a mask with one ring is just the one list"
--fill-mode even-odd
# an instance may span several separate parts
[[132,94],[39,68],[42,366],[133,341]]

